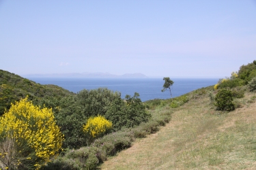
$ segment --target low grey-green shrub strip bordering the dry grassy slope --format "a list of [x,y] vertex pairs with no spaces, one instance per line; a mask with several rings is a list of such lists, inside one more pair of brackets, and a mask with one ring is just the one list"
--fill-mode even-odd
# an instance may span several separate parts
[[96,139],[90,146],[78,150],[67,150],[66,154],[58,156],[51,163],[44,165],[42,169],[97,169],[98,165],[107,160],[108,156],[113,156],[120,150],[129,148],[136,138],[156,133],[159,126],[165,126],[170,119],[170,110],[160,112],[157,118],[152,118],[149,122],[104,135]]

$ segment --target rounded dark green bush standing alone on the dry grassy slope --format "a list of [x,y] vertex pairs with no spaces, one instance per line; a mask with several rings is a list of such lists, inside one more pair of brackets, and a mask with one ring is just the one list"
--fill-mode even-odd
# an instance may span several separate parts
[[221,89],[216,94],[214,105],[217,107],[218,110],[229,112],[235,109],[232,101],[233,101],[232,91],[227,89]]

